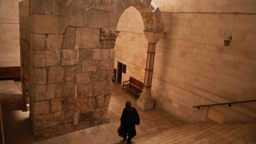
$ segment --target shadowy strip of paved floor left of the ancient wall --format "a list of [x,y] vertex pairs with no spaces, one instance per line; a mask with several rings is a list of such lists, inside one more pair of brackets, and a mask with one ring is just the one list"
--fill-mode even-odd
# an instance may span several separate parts
[[0,100],[5,144],[35,141],[29,112],[21,96],[21,81],[0,81]]

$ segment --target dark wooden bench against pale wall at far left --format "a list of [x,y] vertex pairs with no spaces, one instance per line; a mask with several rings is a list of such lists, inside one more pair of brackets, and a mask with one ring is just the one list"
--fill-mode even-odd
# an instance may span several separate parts
[[6,78],[21,80],[20,67],[0,67],[0,79]]

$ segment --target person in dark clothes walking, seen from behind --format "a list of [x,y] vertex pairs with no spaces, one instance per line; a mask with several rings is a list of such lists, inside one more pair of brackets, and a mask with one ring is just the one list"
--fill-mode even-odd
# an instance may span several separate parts
[[125,104],[125,108],[123,109],[123,113],[121,116],[121,126],[124,128],[126,135],[123,137],[126,140],[127,144],[130,144],[132,138],[136,136],[135,125],[140,124],[139,114],[136,108],[132,107],[130,101],[127,101]]

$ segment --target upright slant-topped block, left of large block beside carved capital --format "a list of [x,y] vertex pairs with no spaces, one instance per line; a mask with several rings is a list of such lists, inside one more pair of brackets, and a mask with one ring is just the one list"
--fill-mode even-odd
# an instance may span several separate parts
[[76,28],[67,27],[62,40],[62,49],[74,49],[76,43]]

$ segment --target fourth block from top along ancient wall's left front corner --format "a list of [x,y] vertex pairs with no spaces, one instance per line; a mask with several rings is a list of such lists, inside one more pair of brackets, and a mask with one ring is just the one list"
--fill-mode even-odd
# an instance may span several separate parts
[[45,51],[44,50],[32,50],[30,54],[30,63],[33,67],[45,67]]

